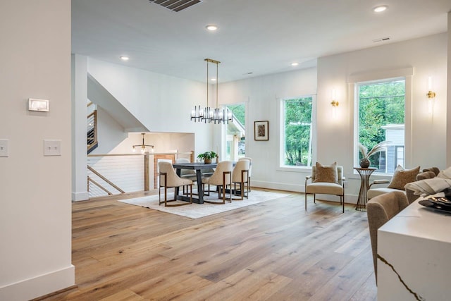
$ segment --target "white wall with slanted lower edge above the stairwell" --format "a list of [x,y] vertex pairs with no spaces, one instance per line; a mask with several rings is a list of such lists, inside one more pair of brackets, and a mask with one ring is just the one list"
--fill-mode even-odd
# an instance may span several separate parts
[[90,58],[88,72],[151,132],[194,133],[196,153],[211,149],[214,125],[190,121],[191,108],[206,103],[204,83]]

